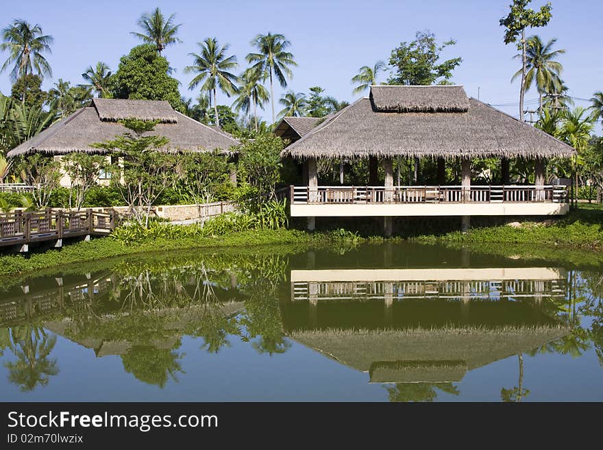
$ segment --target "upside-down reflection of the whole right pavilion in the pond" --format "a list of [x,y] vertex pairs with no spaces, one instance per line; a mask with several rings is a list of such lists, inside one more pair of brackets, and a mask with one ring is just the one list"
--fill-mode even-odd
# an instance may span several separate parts
[[291,271],[286,333],[371,382],[458,382],[567,334],[561,268]]

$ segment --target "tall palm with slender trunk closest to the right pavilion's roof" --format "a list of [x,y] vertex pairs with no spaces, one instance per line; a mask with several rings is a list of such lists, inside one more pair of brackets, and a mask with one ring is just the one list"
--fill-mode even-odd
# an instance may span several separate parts
[[287,87],[287,78],[293,77],[289,66],[297,66],[293,60],[293,53],[286,51],[291,47],[291,42],[282,34],[258,34],[251,40],[251,45],[258,49],[258,53],[249,53],[247,62],[254,64],[253,68],[262,73],[262,77],[270,80],[270,99],[272,103],[272,122],[274,123],[274,89],[273,77],[283,88]]

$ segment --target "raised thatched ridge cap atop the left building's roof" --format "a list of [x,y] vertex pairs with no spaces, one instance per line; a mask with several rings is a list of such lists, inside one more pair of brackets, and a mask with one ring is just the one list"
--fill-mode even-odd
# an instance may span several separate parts
[[101,121],[116,122],[125,118],[141,121],[176,123],[178,118],[171,105],[164,100],[93,99]]

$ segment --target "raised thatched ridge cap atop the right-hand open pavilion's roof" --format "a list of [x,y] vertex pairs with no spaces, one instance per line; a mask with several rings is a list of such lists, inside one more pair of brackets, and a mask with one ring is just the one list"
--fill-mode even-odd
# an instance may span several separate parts
[[371,101],[380,112],[467,112],[463,86],[371,86]]

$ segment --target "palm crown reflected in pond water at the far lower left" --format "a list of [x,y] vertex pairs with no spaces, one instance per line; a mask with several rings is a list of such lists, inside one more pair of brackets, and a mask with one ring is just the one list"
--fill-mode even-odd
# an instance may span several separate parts
[[14,362],[4,365],[10,371],[8,379],[23,392],[36,386],[47,386],[51,375],[57,375],[56,359],[49,355],[56,345],[56,336],[49,336],[45,329],[37,326],[16,327],[10,331],[10,351],[16,356]]

